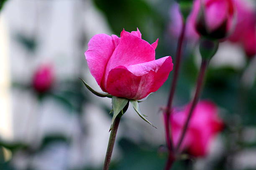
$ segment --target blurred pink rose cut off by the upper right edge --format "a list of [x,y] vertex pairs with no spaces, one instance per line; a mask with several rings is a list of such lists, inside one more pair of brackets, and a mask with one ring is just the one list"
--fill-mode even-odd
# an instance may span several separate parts
[[237,12],[234,32],[229,40],[243,45],[246,55],[256,55],[256,10],[248,0],[236,0]]

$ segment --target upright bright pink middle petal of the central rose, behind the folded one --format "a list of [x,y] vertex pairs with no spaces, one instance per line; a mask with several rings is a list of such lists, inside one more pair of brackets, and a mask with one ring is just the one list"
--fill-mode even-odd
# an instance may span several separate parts
[[140,37],[123,30],[119,45],[115,48],[107,64],[103,80],[104,87],[106,87],[108,74],[113,68],[120,65],[127,67],[152,60],[155,60],[154,48]]

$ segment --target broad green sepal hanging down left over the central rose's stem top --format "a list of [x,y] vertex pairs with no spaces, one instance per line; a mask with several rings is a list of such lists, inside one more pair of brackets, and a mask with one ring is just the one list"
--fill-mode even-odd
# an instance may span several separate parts
[[116,96],[112,97],[113,118],[112,118],[110,130],[112,130],[113,128],[113,123],[115,121],[115,118],[117,116],[122,116],[128,109],[128,105],[129,105],[128,99],[116,97]]

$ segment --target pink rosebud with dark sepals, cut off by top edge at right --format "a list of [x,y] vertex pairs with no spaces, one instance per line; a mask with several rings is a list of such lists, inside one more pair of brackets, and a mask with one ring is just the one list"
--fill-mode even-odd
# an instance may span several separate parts
[[196,29],[199,34],[211,39],[222,39],[230,34],[234,22],[233,0],[196,0],[200,5]]

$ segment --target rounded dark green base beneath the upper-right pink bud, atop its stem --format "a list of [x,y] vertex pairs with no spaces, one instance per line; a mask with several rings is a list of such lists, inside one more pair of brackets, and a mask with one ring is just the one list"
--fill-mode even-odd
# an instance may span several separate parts
[[215,53],[217,52],[219,47],[218,40],[209,40],[202,38],[200,40],[199,51],[202,59],[210,60]]

